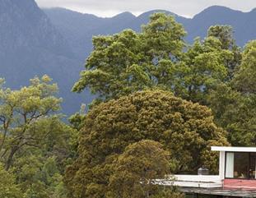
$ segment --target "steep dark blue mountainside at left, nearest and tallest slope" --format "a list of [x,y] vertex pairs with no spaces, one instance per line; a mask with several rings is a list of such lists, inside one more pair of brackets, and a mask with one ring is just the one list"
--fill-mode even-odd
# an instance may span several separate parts
[[82,65],[34,0],[0,0],[0,76],[7,86],[17,89],[48,74],[58,82],[63,111],[72,113],[82,101],[70,91]]

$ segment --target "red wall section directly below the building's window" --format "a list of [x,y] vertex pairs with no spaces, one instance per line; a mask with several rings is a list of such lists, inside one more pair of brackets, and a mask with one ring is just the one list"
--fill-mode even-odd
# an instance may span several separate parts
[[256,190],[256,180],[225,179],[224,180],[224,188],[225,189]]

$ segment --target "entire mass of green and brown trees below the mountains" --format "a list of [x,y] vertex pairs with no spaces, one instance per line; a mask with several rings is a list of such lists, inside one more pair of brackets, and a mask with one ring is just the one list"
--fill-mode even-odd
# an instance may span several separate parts
[[216,172],[211,145],[255,146],[256,41],[240,48],[232,31],[189,45],[156,13],[140,33],[94,37],[73,91],[96,99],[68,123],[49,76],[20,90],[1,79],[0,197],[179,198],[156,179]]

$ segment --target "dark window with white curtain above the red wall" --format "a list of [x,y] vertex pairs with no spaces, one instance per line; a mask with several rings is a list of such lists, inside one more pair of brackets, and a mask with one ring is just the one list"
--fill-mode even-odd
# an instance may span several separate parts
[[226,152],[226,178],[256,179],[256,153]]

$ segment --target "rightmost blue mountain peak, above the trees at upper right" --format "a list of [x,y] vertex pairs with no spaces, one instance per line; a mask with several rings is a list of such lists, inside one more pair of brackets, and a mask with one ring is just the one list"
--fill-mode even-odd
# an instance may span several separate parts
[[249,40],[256,39],[255,19],[256,9],[251,12],[240,12],[228,7],[208,7],[185,25],[189,32],[187,39],[192,41],[196,36],[205,37],[211,25],[231,25],[237,44],[244,46]]

